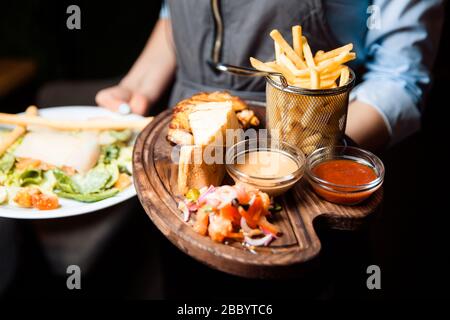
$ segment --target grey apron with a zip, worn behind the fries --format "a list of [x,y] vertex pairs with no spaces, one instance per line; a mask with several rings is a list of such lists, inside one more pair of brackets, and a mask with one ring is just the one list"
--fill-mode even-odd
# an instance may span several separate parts
[[[201,91],[228,90],[248,100],[265,100],[264,78],[218,72],[208,61],[216,39],[212,10],[215,0],[169,0],[177,57],[177,74],[170,105]],[[274,60],[269,33],[278,29],[292,43],[291,27],[300,24],[313,52],[340,44],[332,36],[322,0],[222,0],[220,61],[250,66],[249,57]]]

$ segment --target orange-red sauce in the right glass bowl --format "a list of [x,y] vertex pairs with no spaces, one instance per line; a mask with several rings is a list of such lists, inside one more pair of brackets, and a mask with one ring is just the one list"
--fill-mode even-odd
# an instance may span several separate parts
[[340,185],[329,186],[329,190],[314,182],[314,191],[327,201],[339,204],[357,204],[367,199],[375,190],[359,190],[358,186],[371,183],[377,179],[375,170],[353,160],[328,160],[312,168],[312,173],[319,179]]

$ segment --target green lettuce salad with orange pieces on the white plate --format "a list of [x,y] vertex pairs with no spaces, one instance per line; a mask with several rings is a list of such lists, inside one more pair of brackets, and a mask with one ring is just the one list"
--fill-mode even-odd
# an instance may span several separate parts
[[[2,134],[5,133],[0,132],[0,139]],[[51,196],[96,202],[113,197],[128,187],[132,173],[133,131],[103,131],[98,138],[100,156],[96,165],[84,174],[69,170],[70,168],[16,158],[14,150],[23,138],[18,139],[0,157],[0,204],[14,202],[21,207],[39,208],[41,205],[45,209],[45,204],[42,203]],[[28,201],[27,196],[19,199],[20,192],[23,193],[24,190],[28,192],[30,199],[37,192],[45,196],[35,201],[38,206],[34,202],[33,205],[28,205],[31,200]]]

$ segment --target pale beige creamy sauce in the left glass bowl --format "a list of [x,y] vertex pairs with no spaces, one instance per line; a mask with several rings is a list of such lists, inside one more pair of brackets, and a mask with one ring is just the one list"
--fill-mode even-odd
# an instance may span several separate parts
[[249,176],[261,178],[282,178],[299,169],[288,155],[278,151],[255,150],[239,156],[235,168]]

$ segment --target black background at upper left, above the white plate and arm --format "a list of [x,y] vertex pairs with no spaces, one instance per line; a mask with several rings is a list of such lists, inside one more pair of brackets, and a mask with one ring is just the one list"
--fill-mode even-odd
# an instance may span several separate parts
[[[67,100],[66,105],[94,105],[95,92],[117,83],[138,57],[158,18],[160,2],[2,0],[0,56],[31,59],[37,72],[0,100],[0,108],[17,112],[37,102],[47,107]],[[80,30],[66,27],[66,10],[72,4],[81,8]],[[59,97],[54,85],[65,81],[87,81],[77,89],[86,95],[77,97],[67,90],[66,99]]]

